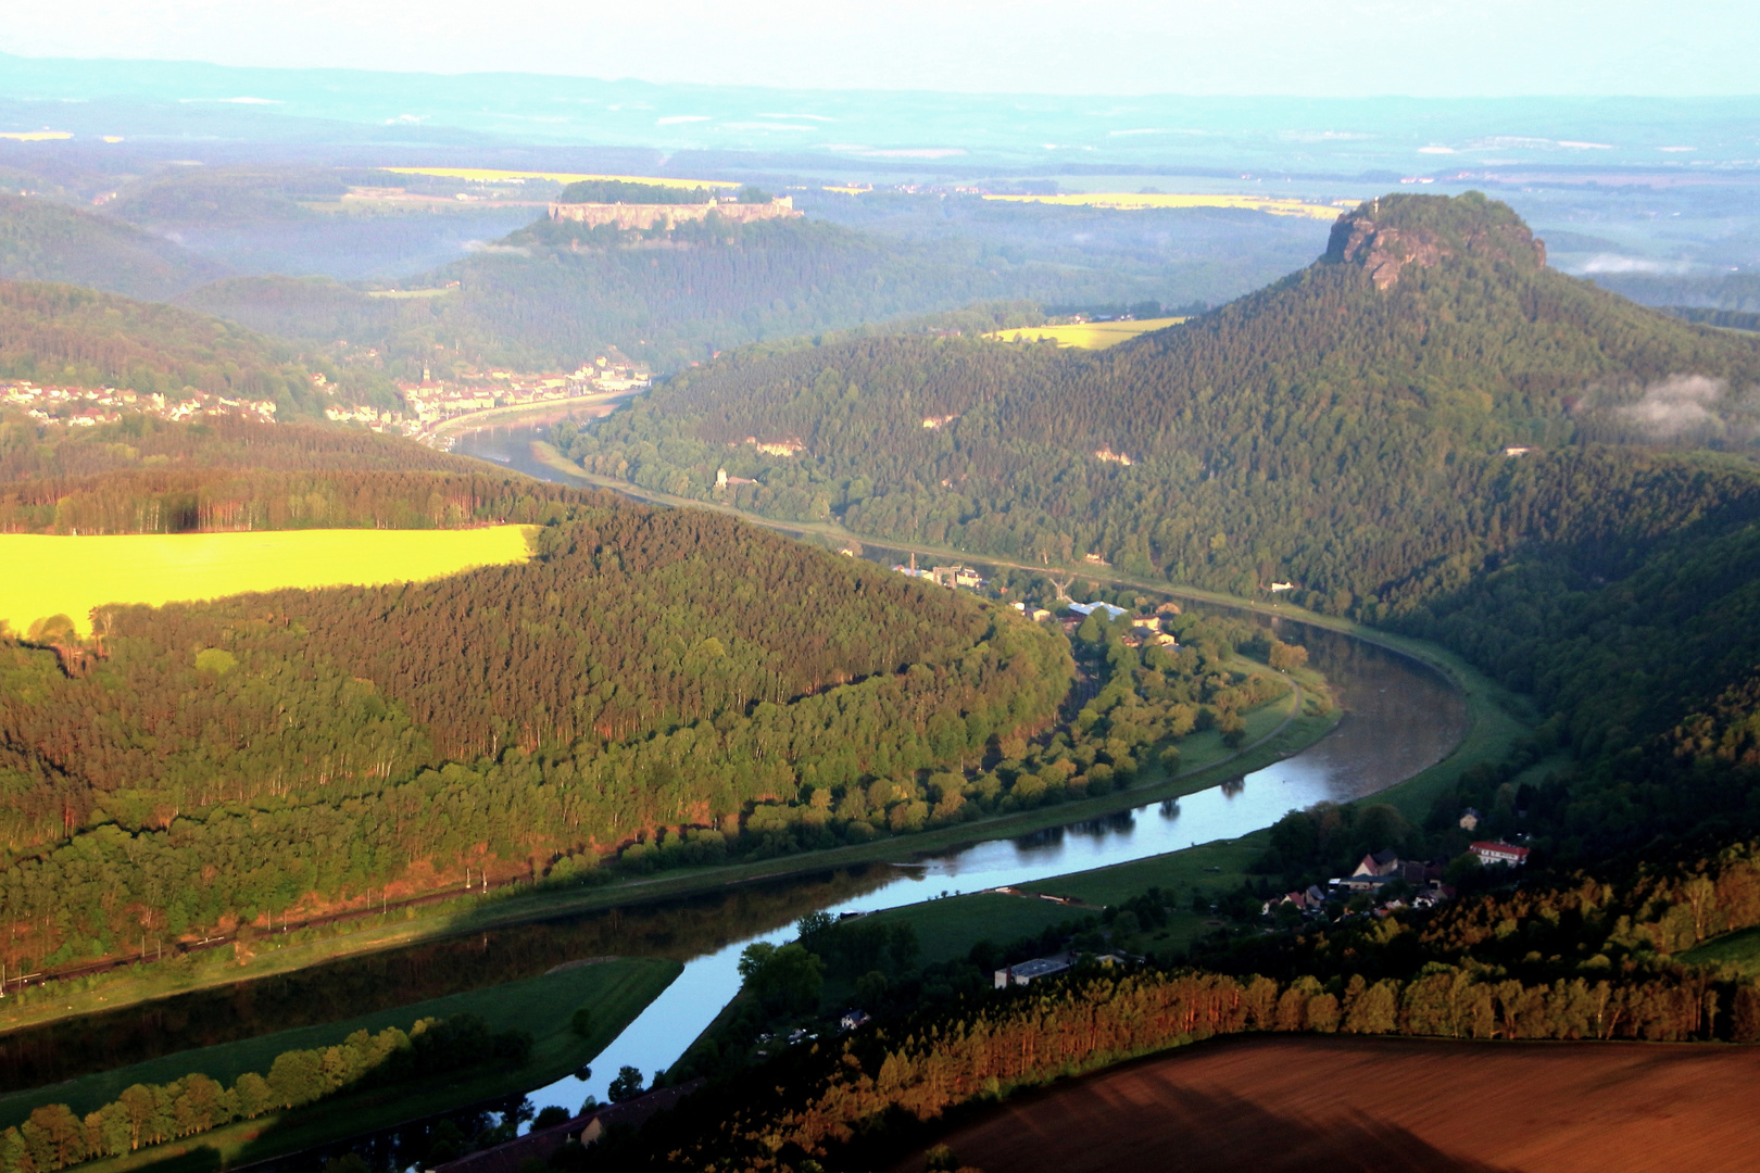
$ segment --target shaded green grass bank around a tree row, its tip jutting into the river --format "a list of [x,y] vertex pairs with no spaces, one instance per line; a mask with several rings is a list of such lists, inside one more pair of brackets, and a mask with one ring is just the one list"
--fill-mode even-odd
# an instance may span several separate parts
[[[51,1089],[18,1092],[0,1099],[0,1117],[14,1122],[39,1103],[67,1103],[76,1111],[88,1111],[114,1099],[116,1092],[130,1083],[164,1082],[188,1071],[202,1071],[222,1080],[236,1078],[243,1071],[268,1071],[275,1055],[283,1050],[334,1043],[359,1029],[377,1031],[387,1025],[407,1029],[415,1018],[428,1015],[447,1016],[468,1011],[482,1015],[496,1031],[517,1027],[535,1036],[530,1062],[517,1069],[465,1071],[438,1076],[421,1085],[343,1096],[303,1111],[232,1124],[181,1143],[162,1145],[128,1157],[95,1161],[81,1168],[93,1173],[134,1169],[187,1157],[199,1150],[209,1150],[220,1164],[260,1161],[558,1080],[598,1055],[681,971],[683,965],[678,962],[655,958],[581,965],[489,990],[417,1002],[400,1011],[370,1015],[329,1027],[283,1031],[86,1076]],[[570,1015],[583,1004],[593,1008],[593,1032],[584,1039],[568,1029]]]

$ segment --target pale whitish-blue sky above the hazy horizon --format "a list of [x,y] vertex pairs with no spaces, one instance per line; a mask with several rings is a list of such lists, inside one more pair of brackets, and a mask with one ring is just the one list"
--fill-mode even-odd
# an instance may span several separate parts
[[811,90],[1760,93],[1755,0],[0,0],[25,56]]

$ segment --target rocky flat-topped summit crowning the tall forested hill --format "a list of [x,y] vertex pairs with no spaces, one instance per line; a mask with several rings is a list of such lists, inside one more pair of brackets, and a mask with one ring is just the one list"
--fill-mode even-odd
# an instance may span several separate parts
[[1429,267],[1447,257],[1545,266],[1545,241],[1507,204],[1468,197],[1450,202],[1438,195],[1389,195],[1366,202],[1332,225],[1325,262],[1360,266],[1383,290],[1399,281],[1406,266]]

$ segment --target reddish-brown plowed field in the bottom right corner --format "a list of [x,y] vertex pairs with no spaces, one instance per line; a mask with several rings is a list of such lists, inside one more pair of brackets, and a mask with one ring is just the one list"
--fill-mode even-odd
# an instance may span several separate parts
[[1227,1039],[1021,1096],[945,1143],[984,1173],[1760,1169],[1760,1046]]

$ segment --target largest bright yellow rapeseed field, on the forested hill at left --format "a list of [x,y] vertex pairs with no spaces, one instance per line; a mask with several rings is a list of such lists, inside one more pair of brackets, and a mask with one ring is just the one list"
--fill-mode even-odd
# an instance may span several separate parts
[[0,621],[25,633],[67,616],[81,635],[104,603],[192,601],[280,587],[440,579],[523,563],[533,526],[484,529],[275,529],[69,538],[0,533]]

